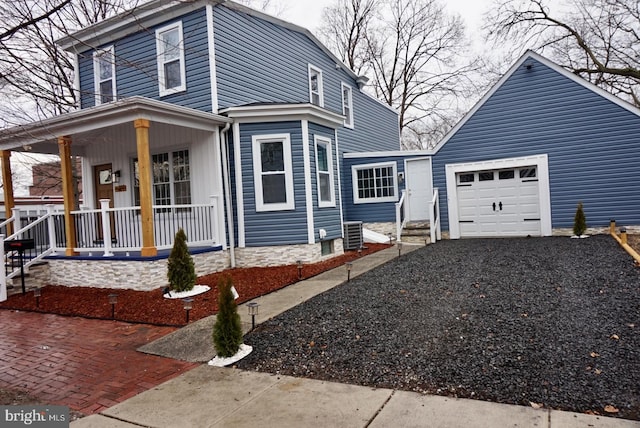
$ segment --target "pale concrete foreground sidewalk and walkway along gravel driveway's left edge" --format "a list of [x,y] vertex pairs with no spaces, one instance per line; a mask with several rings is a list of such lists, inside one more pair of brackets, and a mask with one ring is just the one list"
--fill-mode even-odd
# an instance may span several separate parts
[[[402,252],[415,248],[405,245]],[[397,256],[394,247],[358,259],[351,276]],[[342,266],[255,299],[256,322],[343,283],[346,276]],[[246,312],[239,311],[248,329]],[[630,428],[640,422],[202,365],[71,426]]]

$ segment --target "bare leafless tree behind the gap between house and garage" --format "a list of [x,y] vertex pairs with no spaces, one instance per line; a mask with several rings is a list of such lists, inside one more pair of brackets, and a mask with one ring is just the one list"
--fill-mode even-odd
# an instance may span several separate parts
[[460,116],[476,65],[464,58],[460,16],[438,0],[339,0],[325,10],[321,35],[398,110],[404,148],[432,147]]

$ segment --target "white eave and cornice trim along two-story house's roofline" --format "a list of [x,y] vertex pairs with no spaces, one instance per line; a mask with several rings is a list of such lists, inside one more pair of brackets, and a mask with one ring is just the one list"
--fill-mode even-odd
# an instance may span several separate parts
[[105,19],[104,21],[100,21],[96,24],[78,30],[73,34],[62,37],[57,40],[56,43],[67,52],[74,54],[84,52],[95,49],[98,46],[111,43],[114,40],[123,38],[127,35],[137,33],[143,28],[167,22],[207,5],[221,5],[228,7],[287,28],[291,31],[302,33],[317,45],[327,56],[329,56],[336,63],[337,67],[340,67],[347,72],[354,80],[357,80],[359,77],[306,28],[230,0],[151,0],[150,2],[144,3],[131,10],[125,11],[116,16]]

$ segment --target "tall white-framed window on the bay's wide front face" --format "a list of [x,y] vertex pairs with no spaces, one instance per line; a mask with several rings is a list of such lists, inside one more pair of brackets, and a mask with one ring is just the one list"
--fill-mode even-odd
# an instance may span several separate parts
[[256,211],[295,209],[289,134],[253,136]]

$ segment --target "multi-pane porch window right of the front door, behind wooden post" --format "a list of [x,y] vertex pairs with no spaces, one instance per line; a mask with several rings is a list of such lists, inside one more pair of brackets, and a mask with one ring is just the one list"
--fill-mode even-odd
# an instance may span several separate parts
[[[156,153],[151,156],[153,205],[191,204],[189,150]],[[140,206],[140,169],[133,160],[134,205]]]

